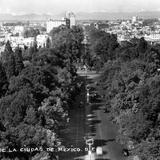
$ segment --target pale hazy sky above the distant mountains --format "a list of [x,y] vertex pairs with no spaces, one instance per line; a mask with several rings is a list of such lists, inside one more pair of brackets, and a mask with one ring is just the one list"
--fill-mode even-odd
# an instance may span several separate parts
[[160,0],[0,0],[0,13],[160,11]]

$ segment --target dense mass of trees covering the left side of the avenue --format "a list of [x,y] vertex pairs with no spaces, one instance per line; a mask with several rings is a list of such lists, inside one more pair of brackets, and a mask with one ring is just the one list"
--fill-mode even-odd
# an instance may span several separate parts
[[[81,54],[83,33],[79,27],[59,27],[51,36],[57,45],[50,42],[38,49],[35,42],[28,56],[6,43],[0,63],[0,147],[17,151],[4,152],[0,159],[55,158],[53,152],[40,151],[59,145],[59,130],[66,125],[68,109],[80,87],[75,60]],[[22,147],[39,150],[19,152]]]

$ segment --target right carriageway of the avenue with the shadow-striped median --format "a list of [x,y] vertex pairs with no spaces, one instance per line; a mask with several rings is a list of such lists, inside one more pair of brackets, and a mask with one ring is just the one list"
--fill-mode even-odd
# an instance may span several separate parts
[[[83,74],[81,74],[83,75]],[[97,92],[95,81],[98,77],[96,73],[87,73],[87,85],[92,86],[90,89],[91,94]],[[96,152],[81,156],[79,159],[84,160],[124,160],[122,154],[122,145],[118,144],[115,139],[117,133],[117,127],[109,120],[107,113],[104,113],[104,103],[102,99],[90,98],[90,104],[85,106],[85,114],[87,125],[87,134],[94,139],[94,146],[102,147],[103,154],[98,156]],[[78,159],[78,158],[77,158]]]

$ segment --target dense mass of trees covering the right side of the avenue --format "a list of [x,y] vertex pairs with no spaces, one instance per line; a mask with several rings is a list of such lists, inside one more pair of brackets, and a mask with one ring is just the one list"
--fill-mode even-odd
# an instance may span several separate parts
[[90,33],[91,45],[98,44],[91,51],[103,62],[100,91],[119,126],[117,140],[142,160],[160,159],[160,45],[144,38],[118,45],[114,35]]

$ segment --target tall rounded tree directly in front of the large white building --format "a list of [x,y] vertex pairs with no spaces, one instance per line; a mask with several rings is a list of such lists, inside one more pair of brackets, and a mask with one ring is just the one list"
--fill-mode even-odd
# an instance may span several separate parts
[[60,26],[53,29],[50,33],[52,38],[52,47],[59,50],[65,59],[70,59],[71,62],[77,61],[81,55],[83,32],[79,27],[68,29]]

